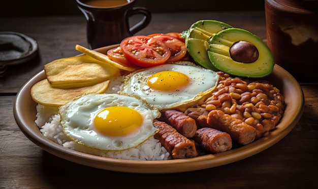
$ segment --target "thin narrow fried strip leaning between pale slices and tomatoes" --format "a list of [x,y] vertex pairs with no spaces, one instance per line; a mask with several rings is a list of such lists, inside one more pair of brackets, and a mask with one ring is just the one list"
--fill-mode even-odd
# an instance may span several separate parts
[[120,64],[120,63],[117,63],[117,62],[114,62],[112,61],[107,55],[103,54],[103,53],[100,53],[98,51],[94,51],[94,50],[90,50],[90,49],[87,49],[85,47],[82,47],[80,45],[76,45],[75,46],[75,49],[81,53],[84,53],[88,56],[91,56],[97,60],[100,60],[104,63],[107,63],[107,64],[110,64],[112,66],[115,66],[119,69],[123,69],[123,70],[126,70],[126,71],[135,71],[137,69],[140,69],[140,67],[138,66],[126,66],[126,65],[123,65],[123,64]]

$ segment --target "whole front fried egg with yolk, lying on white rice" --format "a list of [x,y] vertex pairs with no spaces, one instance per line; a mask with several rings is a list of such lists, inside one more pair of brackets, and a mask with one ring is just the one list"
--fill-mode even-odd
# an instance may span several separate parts
[[86,94],[59,107],[64,133],[85,146],[102,150],[135,147],[153,136],[160,115],[141,100],[119,94]]

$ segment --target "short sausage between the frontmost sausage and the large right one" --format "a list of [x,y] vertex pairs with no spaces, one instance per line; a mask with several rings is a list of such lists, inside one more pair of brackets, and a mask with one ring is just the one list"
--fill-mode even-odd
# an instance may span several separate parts
[[232,139],[229,133],[210,127],[197,130],[194,140],[211,153],[220,153],[232,148]]

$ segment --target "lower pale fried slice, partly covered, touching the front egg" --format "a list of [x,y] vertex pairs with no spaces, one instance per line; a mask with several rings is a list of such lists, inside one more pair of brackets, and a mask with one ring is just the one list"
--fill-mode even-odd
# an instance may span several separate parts
[[53,88],[47,79],[37,82],[31,87],[31,97],[39,104],[61,106],[73,98],[89,93],[103,93],[107,90],[110,80],[89,87],[74,89]]

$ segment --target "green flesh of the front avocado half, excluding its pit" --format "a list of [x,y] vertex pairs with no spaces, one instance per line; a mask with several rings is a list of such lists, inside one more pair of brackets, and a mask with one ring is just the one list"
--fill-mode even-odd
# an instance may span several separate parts
[[[230,56],[231,47],[240,41],[249,42],[258,50],[258,58],[251,63],[237,62]],[[265,77],[273,71],[274,58],[267,45],[256,35],[240,28],[221,30],[209,41],[208,57],[215,68],[246,78]]]

